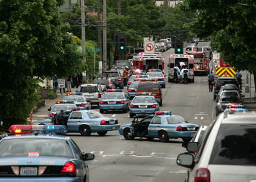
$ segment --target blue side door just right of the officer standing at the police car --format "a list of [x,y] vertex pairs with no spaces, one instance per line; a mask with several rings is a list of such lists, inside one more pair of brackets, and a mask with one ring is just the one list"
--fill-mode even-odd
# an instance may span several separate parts
[[67,120],[68,132],[79,132],[79,126],[82,123],[83,114],[80,111],[73,111]]

